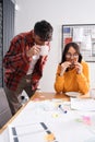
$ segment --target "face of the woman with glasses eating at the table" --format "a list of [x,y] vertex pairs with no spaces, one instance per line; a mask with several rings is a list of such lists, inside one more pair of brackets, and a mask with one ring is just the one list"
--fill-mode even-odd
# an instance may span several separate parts
[[75,61],[79,61],[79,54],[76,50],[71,46],[66,54],[66,60],[70,61],[72,64],[74,64]]

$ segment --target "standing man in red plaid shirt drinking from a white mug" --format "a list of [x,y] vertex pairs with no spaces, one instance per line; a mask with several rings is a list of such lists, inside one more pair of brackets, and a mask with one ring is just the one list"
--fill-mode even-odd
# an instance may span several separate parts
[[21,33],[11,42],[3,58],[3,66],[4,91],[12,115],[21,107],[17,98],[23,90],[28,97],[37,90],[48,57],[40,55],[41,46],[48,46],[49,51],[52,32],[54,28],[47,21],[40,21],[34,25],[33,31]]

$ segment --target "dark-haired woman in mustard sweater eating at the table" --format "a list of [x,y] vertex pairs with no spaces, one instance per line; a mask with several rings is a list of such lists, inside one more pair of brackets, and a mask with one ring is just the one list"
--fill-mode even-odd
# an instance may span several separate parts
[[61,92],[80,92],[86,94],[90,90],[88,64],[82,60],[80,47],[75,43],[66,45],[61,63],[58,66],[55,90]]

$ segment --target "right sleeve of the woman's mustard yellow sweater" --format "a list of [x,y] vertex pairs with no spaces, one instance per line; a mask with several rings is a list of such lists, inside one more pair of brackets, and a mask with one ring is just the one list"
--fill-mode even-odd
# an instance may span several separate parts
[[76,81],[79,84],[79,88],[83,94],[86,94],[90,90],[90,68],[86,62],[82,62],[83,72],[81,74],[76,74]]

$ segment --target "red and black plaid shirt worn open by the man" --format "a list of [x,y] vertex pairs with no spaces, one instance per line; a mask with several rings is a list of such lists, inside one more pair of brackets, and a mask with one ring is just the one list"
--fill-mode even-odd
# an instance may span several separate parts
[[[32,48],[34,44],[33,31],[21,33],[12,39],[10,48],[3,58],[5,69],[4,82],[12,91],[16,90],[21,79],[27,73],[32,59],[26,56],[26,51]],[[40,57],[36,62],[32,74],[32,90],[37,88],[39,79],[43,76],[43,69],[46,61],[47,56]]]

